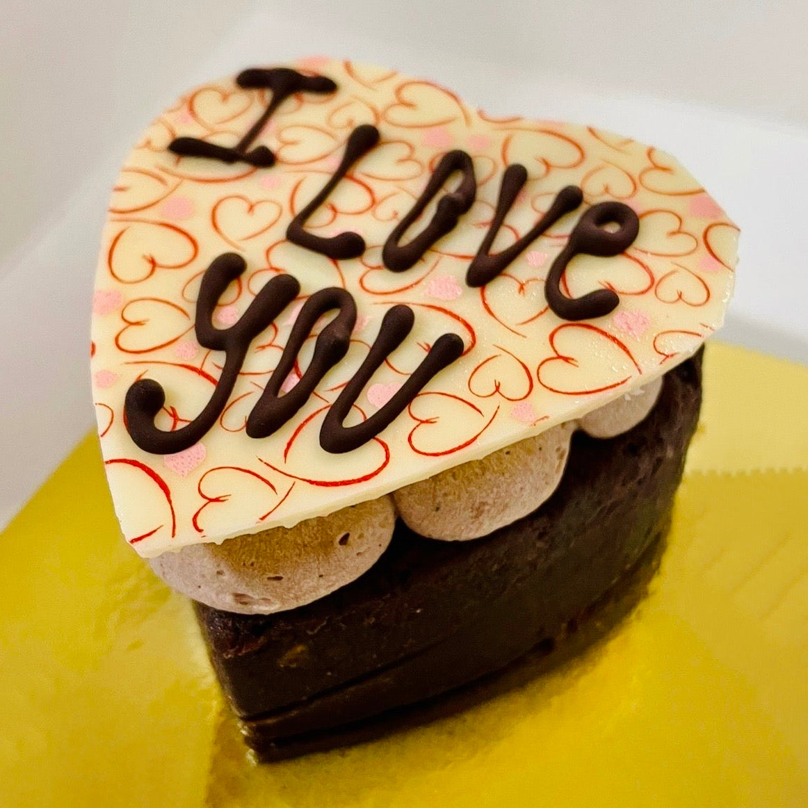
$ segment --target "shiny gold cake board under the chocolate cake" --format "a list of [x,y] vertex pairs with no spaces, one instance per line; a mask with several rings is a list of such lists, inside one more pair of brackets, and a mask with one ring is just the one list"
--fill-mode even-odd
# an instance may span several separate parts
[[190,604],[120,539],[88,437],[0,536],[0,806],[808,804],[808,368],[722,343],[705,361],[628,619],[453,718],[264,766]]

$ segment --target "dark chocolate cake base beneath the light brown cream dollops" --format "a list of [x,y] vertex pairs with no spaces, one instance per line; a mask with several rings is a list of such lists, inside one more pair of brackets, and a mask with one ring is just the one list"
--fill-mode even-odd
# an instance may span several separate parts
[[701,353],[667,373],[633,430],[576,433],[553,496],[488,537],[434,541],[399,521],[372,569],[314,604],[268,616],[196,604],[259,758],[428,720],[451,701],[437,696],[542,656],[667,528],[700,405]]

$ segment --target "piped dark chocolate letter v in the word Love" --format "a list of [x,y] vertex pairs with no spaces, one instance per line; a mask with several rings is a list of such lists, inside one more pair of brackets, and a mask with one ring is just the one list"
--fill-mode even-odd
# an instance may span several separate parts
[[465,273],[465,282],[469,286],[485,286],[491,280],[494,280],[541,234],[545,233],[566,213],[574,211],[583,201],[583,192],[579,187],[568,185],[562,188],[561,191],[558,191],[558,195],[553,200],[553,204],[550,205],[547,213],[522,238],[502,252],[490,255],[491,245],[493,245],[494,239],[499,233],[499,228],[502,227],[508,211],[516,201],[516,196],[519,195],[524,183],[527,181],[528,170],[520,163],[514,163],[505,169],[502,182],[499,185],[499,197],[497,198],[494,220],[486,233],[486,238],[482,239],[477,255],[473,257]]

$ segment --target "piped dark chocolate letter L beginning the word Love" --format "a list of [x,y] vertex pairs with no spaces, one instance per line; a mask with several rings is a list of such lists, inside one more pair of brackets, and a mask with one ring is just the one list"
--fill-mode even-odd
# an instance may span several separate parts
[[371,124],[362,124],[351,132],[345,144],[343,160],[340,162],[335,174],[322,187],[322,191],[289,223],[286,229],[286,238],[290,242],[337,260],[358,258],[364,253],[364,238],[360,234],[348,231],[340,233],[338,236],[326,238],[309,233],[305,229],[305,223],[309,221],[314,211],[328,199],[330,192],[335,189],[339,180],[343,179],[351,170],[351,166],[364,154],[368,154],[378,142],[379,130]]

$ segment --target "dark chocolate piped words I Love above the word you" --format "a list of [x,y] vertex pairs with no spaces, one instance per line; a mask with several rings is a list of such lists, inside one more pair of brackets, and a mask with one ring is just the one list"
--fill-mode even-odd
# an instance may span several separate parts
[[[251,151],[248,149],[272,113],[291,95],[332,93],[337,89],[336,83],[330,78],[306,76],[289,68],[247,69],[238,74],[236,82],[244,88],[263,88],[271,90],[272,93],[267,109],[238,145],[234,149],[229,149],[209,141],[179,137],[169,146],[172,152],[183,156],[213,158],[228,163],[242,161],[253,166],[271,166],[275,162],[275,156],[266,146],[259,146]],[[325,203],[351,167],[374,149],[379,141],[379,130],[370,124],[362,124],[351,132],[342,161],[334,175],[289,223],[286,236],[290,242],[335,260],[355,259],[364,253],[366,246],[364,238],[358,233],[347,231],[323,237],[309,233],[305,229],[305,224]],[[456,174],[461,175],[457,186],[452,191],[444,192],[440,197],[428,224],[419,234],[410,236],[409,241],[402,244],[402,238],[419,220],[427,205],[435,199],[452,175]],[[500,183],[494,218],[466,271],[465,281],[469,286],[480,287],[494,280],[541,234],[567,213],[579,208],[583,202],[583,193],[579,187],[568,185],[562,188],[536,225],[506,250],[491,254],[491,246],[527,181],[528,171],[524,166],[519,163],[507,166]],[[476,194],[477,181],[469,154],[460,149],[444,154],[421,196],[415,200],[410,211],[402,217],[386,239],[382,249],[385,267],[393,272],[402,272],[415,266],[431,246],[457,226],[460,217],[474,203]],[[639,219],[628,205],[620,202],[602,202],[589,208],[570,234],[564,250],[553,261],[545,280],[545,297],[553,313],[565,320],[584,320],[604,317],[616,309],[620,302],[616,292],[610,289],[598,289],[582,297],[570,298],[561,290],[561,279],[567,264],[575,255],[597,255],[604,258],[619,255],[633,243],[638,232]]]

